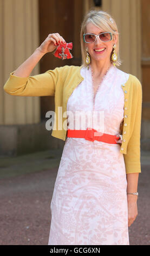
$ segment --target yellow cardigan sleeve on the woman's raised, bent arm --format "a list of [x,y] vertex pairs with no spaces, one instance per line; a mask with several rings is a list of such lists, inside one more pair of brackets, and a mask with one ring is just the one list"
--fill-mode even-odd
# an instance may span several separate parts
[[17,96],[54,96],[62,68],[55,68],[43,74],[28,77],[15,76],[15,71],[13,71],[4,85],[4,91]]

